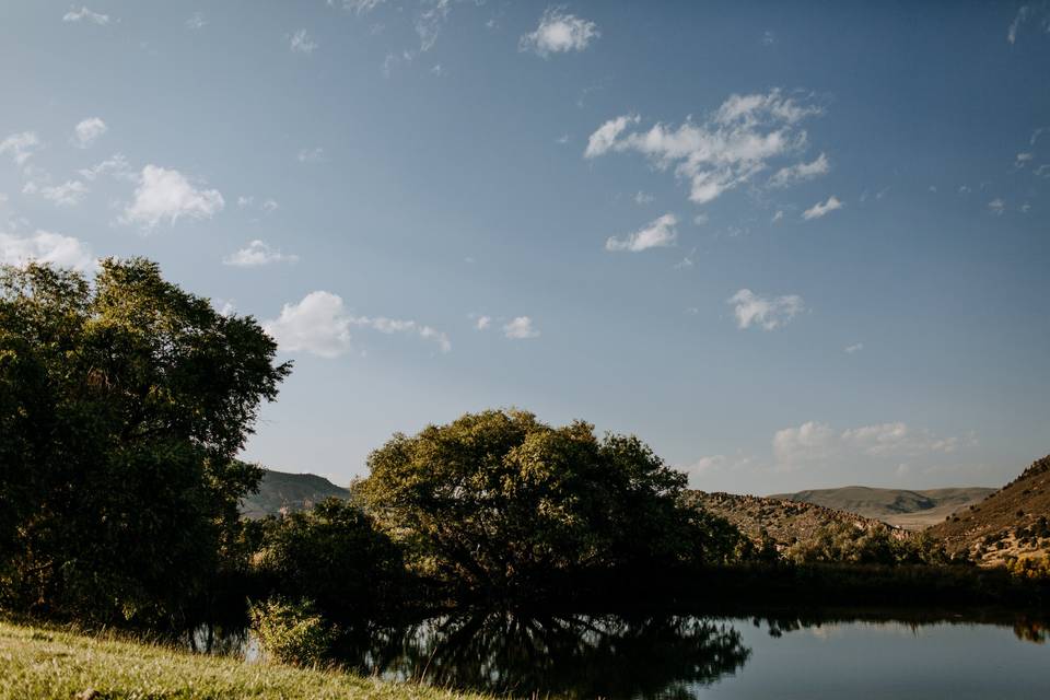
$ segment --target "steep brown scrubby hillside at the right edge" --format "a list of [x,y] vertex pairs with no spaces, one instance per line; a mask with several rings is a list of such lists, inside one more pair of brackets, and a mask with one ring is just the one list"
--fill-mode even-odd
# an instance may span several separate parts
[[982,564],[1050,555],[1050,455],[987,499],[930,528],[948,551],[969,550]]

